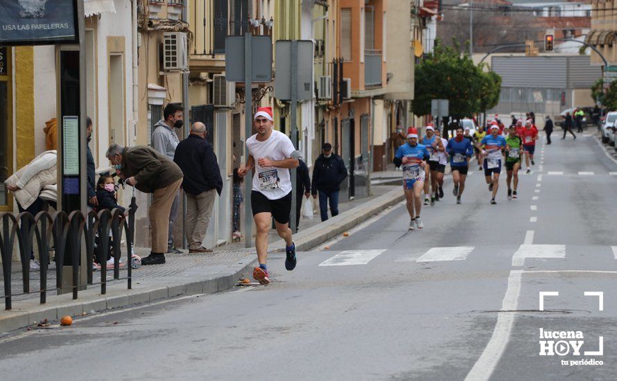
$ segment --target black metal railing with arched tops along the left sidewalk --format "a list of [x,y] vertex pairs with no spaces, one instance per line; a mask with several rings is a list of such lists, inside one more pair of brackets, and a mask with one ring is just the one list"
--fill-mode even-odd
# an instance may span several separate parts
[[[55,289],[62,289],[62,267],[69,263],[72,270],[73,299],[78,299],[78,275],[82,251],[82,239],[85,239],[87,284],[93,283],[94,258],[101,264],[101,294],[107,292],[107,254],[112,251],[114,258],[114,279],[120,278],[121,265],[121,240],[123,231],[126,240],[125,258],[127,267],[127,287],[130,289],[132,278],[132,251],[134,237],[135,211],[137,203],[132,197],[125,216],[120,209],[112,211],[90,211],[84,215],[81,211],[73,211],[67,215],[64,211],[49,213],[42,211],[37,215],[24,212],[18,215],[12,213],[0,214],[0,254],[2,258],[2,274],[4,283],[4,303],[6,310],[12,308],[12,296],[30,294],[30,257],[33,247],[39,252],[40,259],[40,303],[46,303],[48,291],[47,275],[49,252],[53,247],[55,251]],[[111,242],[109,240],[111,233]],[[98,236],[98,242],[97,240]],[[23,292],[13,294],[11,290],[12,253],[15,249],[15,238],[19,245],[19,260],[21,261],[21,276],[23,279]],[[51,240],[50,240],[51,238]],[[35,241],[36,240],[36,241]],[[53,242],[53,245],[52,245]],[[111,244],[111,247],[110,247]],[[66,255],[68,254],[68,256]]]

